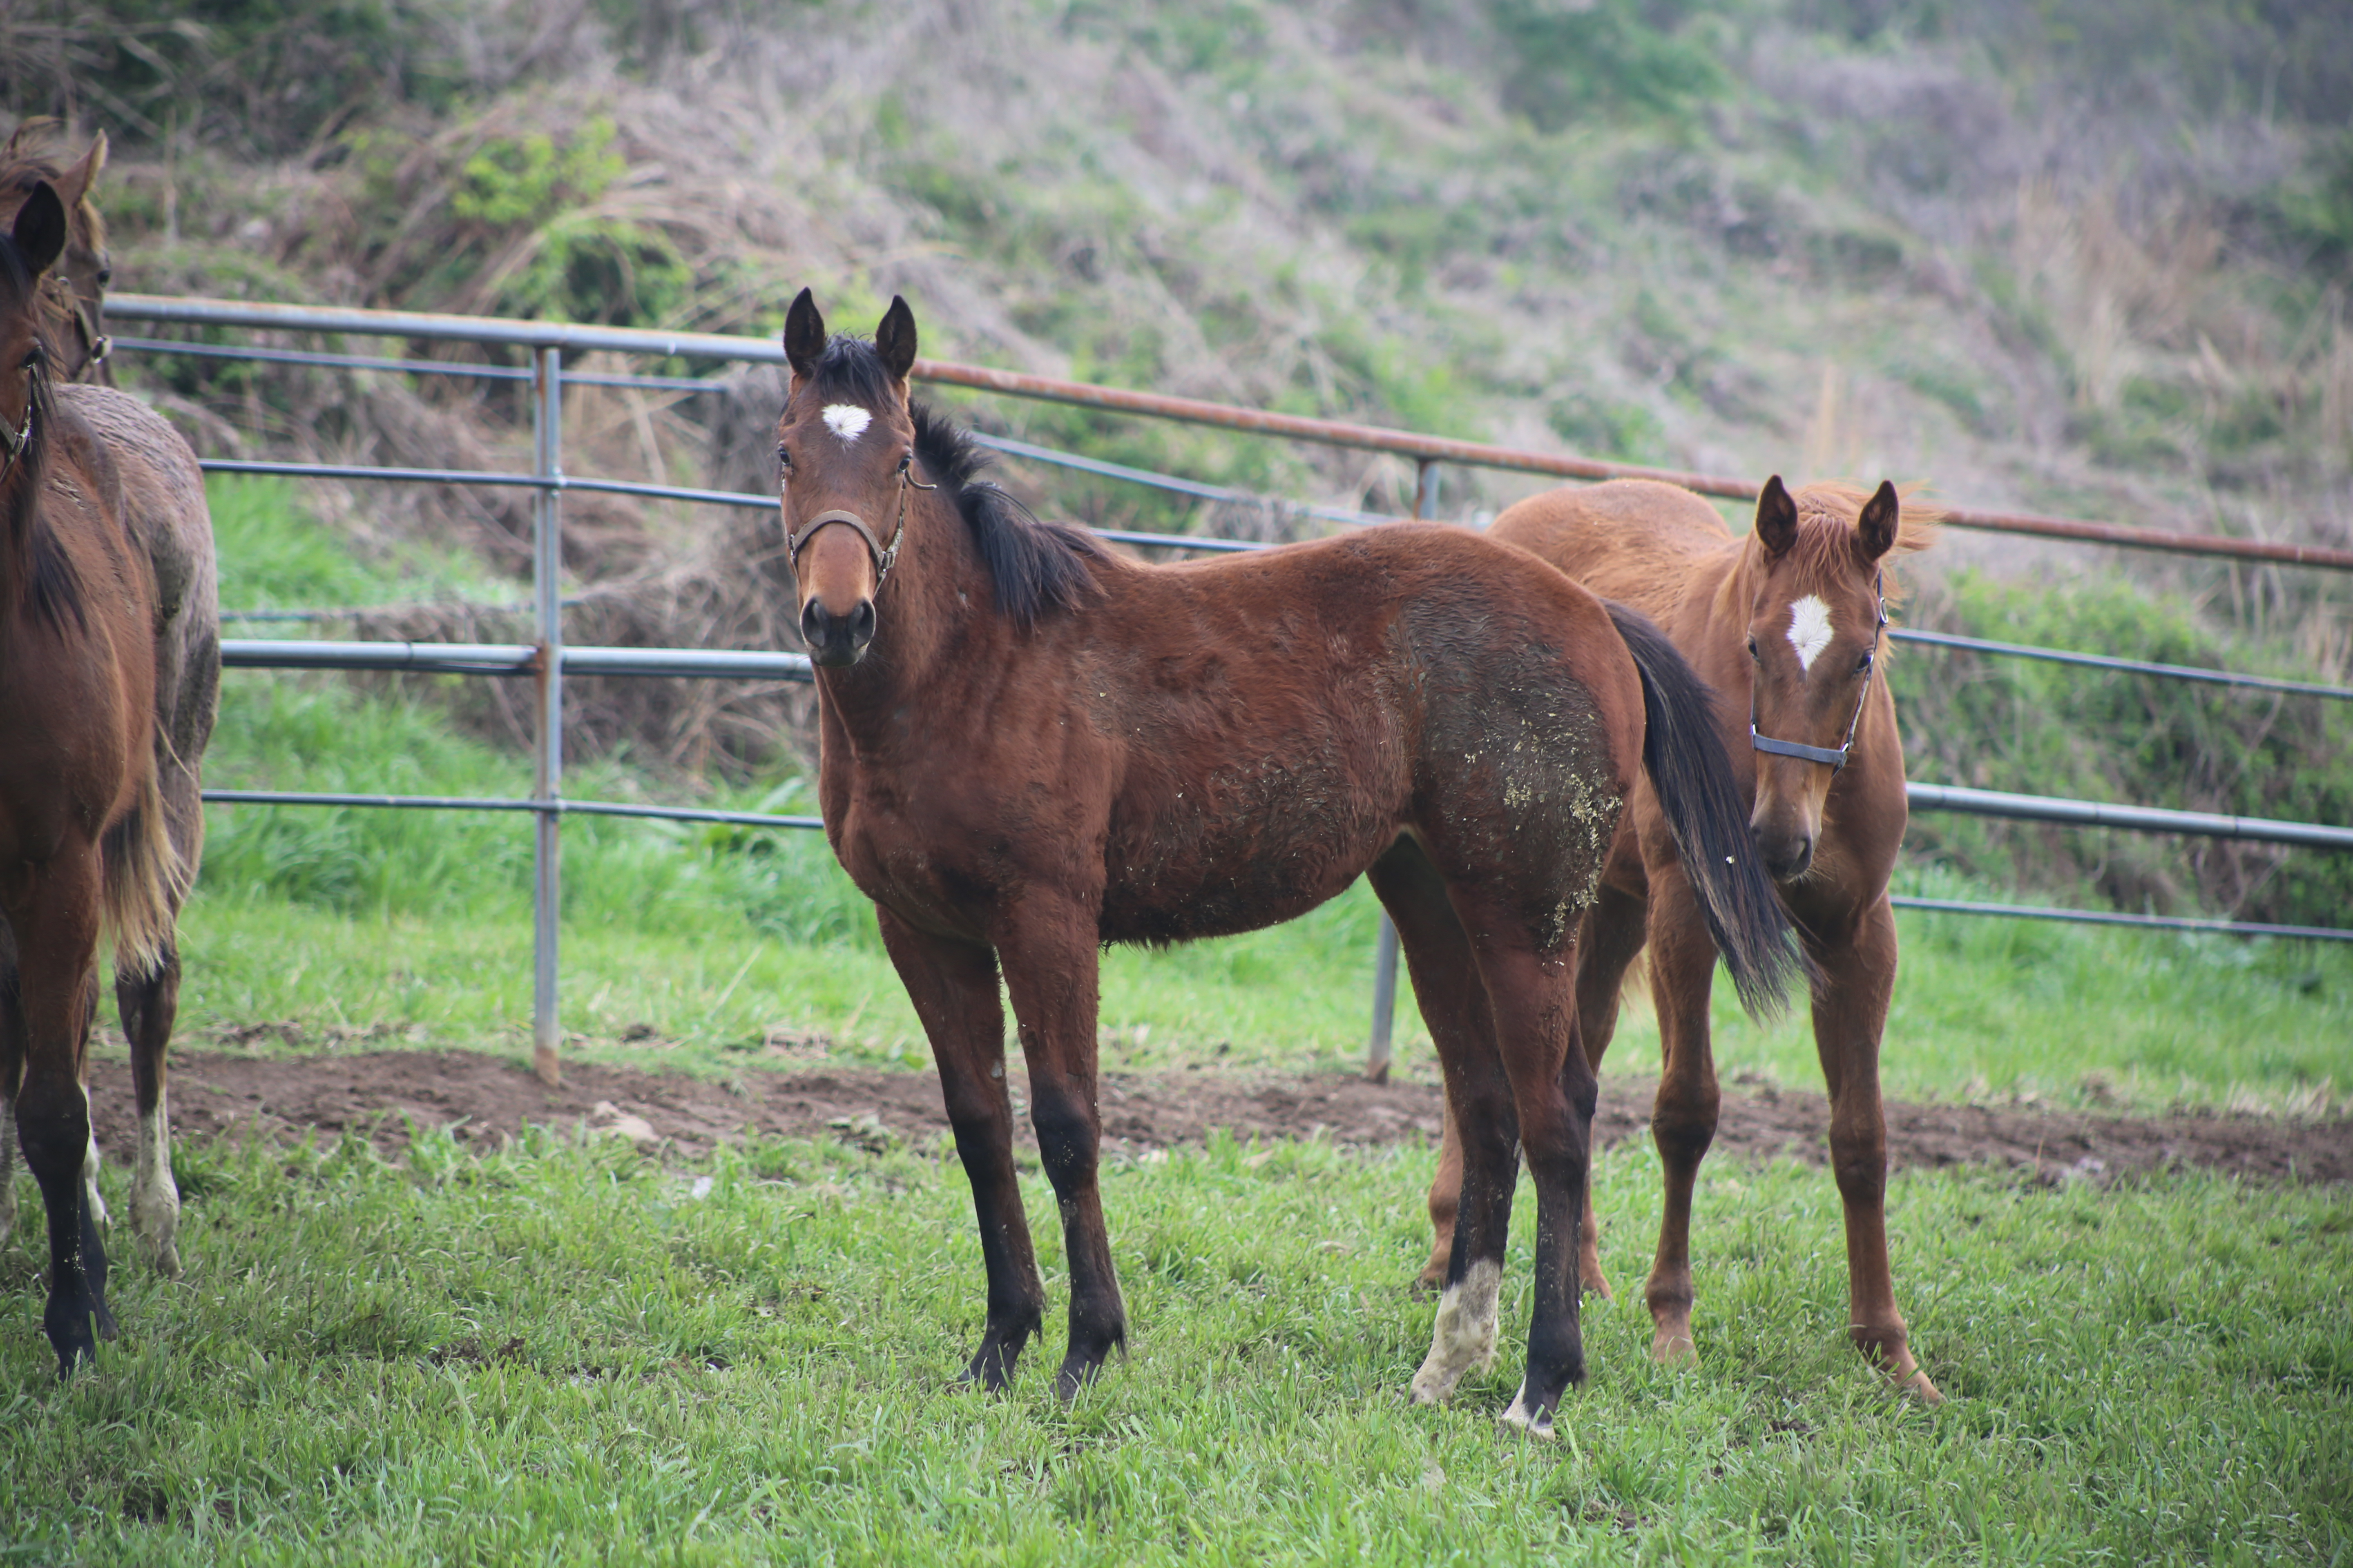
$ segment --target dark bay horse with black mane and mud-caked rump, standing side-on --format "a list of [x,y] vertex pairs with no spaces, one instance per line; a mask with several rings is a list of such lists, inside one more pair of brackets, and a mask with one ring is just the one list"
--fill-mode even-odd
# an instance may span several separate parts
[[906,301],[864,343],[828,339],[802,292],[784,348],[784,555],[816,663],[826,837],[875,900],[972,1180],[988,1314],[965,1378],[1002,1387],[1045,1316],[1000,973],[1061,1204],[1073,1396],[1127,1338],[1096,1190],[1096,950],[1249,931],[1369,875],[1468,1131],[1414,1396],[1494,1356],[1525,1145],[1537,1291],[1506,1418],[1548,1429],[1584,1378],[1595,1084],[1574,1048],[1577,931],[1638,766],[1711,867],[1744,985],[1795,961],[1722,743],[1678,719],[1704,715],[1701,686],[1640,616],[1459,529],[1148,567],[1042,524],[908,402]]

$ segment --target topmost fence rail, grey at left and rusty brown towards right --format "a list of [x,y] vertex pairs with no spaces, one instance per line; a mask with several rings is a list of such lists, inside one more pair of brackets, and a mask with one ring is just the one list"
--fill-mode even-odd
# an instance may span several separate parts
[[[113,294],[106,301],[106,310],[127,322],[172,322],[181,327],[344,331],[442,343],[555,348],[562,353],[602,350],[661,357],[701,355],[711,360],[741,360],[746,364],[784,364],[781,341],[727,336],[718,331],[645,331],[631,327],[591,327],[579,322],[515,322],[478,315],[435,315],[424,310],[264,306],[228,299],[162,299],[153,294]],[[1113,414],[1141,414],[1148,418],[1217,425],[1221,430],[1247,430],[1257,435],[1320,442],[1327,447],[1386,451],[1421,463],[1464,463],[1471,468],[1541,473],[1562,480],[1661,480],[1668,484],[1682,484],[1685,489],[1694,489],[1704,496],[1722,496],[1729,501],[1755,501],[1758,496],[1758,482],[1753,480],[1647,468],[1640,463],[1600,463],[1565,454],[1520,451],[1513,447],[1494,447],[1489,442],[1459,442],[1438,435],[1417,435],[1412,430],[1386,430],[1381,425],[1358,425],[1337,418],[1311,418],[1306,414],[1240,409],[1200,397],[1134,393],[1127,388],[1059,381],[1054,376],[1031,376],[1024,371],[1002,371],[981,364],[955,364],[948,360],[918,360],[913,376],[918,381],[962,386],[979,393],[1002,393],[1007,397],[1035,397],[1045,402],[1106,409]],[[2167,529],[2134,529],[2113,522],[2085,522],[2078,517],[2042,517],[2038,512],[1998,512],[1977,508],[1948,508],[1944,522],[1960,529],[2033,534],[2040,538],[2068,538],[2129,550],[2172,550],[2186,555],[2271,562],[2282,567],[2353,571],[2353,550],[2337,550],[2327,545],[2292,545],[2261,538],[2226,538],[2214,534],[2172,534]]]

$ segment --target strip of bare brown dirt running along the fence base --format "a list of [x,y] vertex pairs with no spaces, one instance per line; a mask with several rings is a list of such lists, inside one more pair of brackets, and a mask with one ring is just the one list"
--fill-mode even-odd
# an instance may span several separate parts
[[[92,1114],[101,1147],[127,1150],[134,1126],[129,1070],[99,1063]],[[1348,1145],[1428,1143],[1440,1100],[1426,1084],[1367,1084],[1355,1077],[1155,1072],[1104,1077],[1108,1154],[1202,1143],[1212,1128],[1235,1138],[1332,1138]],[[1026,1112],[1014,1077],[1014,1110]],[[1595,1143],[1647,1126],[1649,1084],[1602,1086]],[[172,1060],[172,1124],[181,1138],[369,1131],[386,1150],[419,1126],[464,1121],[461,1135],[496,1143],[525,1121],[588,1124],[680,1154],[753,1135],[887,1138],[932,1143],[946,1131],[932,1072],[826,1067],[746,1070],[734,1084],[682,1074],[572,1063],[562,1088],[518,1063],[466,1051],[374,1051],[313,1058],[207,1056]],[[1028,1119],[1019,1119],[1028,1140]],[[1828,1157],[1821,1093],[1727,1088],[1715,1154],[1769,1159]],[[2252,1180],[2353,1180],[2353,1121],[2268,1121],[2252,1117],[2094,1117],[1986,1105],[1887,1107],[1897,1168],[1981,1161],[2026,1180],[2106,1182],[2137,1171],[2207,1166]]]

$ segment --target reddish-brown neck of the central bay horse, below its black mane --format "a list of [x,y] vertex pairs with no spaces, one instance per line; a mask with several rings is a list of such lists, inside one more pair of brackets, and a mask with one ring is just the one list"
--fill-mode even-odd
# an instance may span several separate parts
[[953,496],[948,489],[913,491],[899,559],[875,595],[873,646],[847,670],[816,675],[828,717],[852,743],[878,733],[951,665],[993,663],[993,651],[984,649],[1000,628],[995,585]]

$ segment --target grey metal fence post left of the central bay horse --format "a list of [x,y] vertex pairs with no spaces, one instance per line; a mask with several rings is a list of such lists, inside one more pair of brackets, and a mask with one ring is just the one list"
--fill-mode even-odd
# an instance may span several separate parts
[[[532,473],[560,480],[565,421],[565,355],[532,350]],[[532,607],[539,614],[539,712],[534,715],[532,813],[532,1072],[551,1088],[562,1077],[555,1048],[562,1020],[555,1004],[555,926],[562,912],[562,818],[553,804],[565,776],[565,623],[562,623],[562,501],[560,491],[532,491]]]

